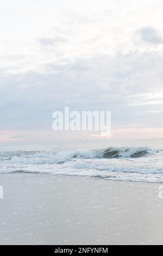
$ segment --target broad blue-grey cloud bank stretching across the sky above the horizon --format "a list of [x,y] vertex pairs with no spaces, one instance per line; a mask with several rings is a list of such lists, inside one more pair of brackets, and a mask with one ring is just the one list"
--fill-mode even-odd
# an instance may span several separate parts
[[113,126],[162,127],[160,60],[156,52],[117,53],[49,63],[41,73],[5,74],[1,129],[51,130],[52,113],[67,104],[77,111],[111,111]]

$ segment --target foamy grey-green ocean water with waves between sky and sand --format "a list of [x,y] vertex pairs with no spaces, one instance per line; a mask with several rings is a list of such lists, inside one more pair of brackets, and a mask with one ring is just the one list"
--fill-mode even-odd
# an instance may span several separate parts
[[91,176],[163,182],[163,139],[96,141],[0,150],[0,174]]

